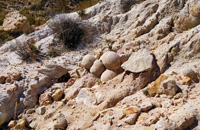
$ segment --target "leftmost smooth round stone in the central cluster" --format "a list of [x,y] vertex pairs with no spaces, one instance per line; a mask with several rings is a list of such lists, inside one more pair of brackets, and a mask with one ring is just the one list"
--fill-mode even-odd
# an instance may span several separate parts
[[96,58],[93,55],[86,55],[83,57],[81,65],[85,67],[86,69],[90,69],[90,67],[93,65],[95,60]]

